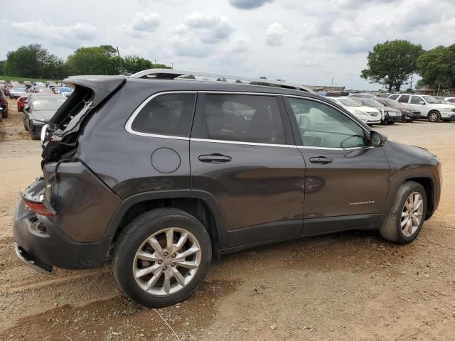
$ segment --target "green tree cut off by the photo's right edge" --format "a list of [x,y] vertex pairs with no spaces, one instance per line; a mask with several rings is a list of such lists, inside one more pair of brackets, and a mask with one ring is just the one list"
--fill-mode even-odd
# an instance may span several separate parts
[[417,59],[417,69],[424,85],[454,89],[455,44],[425,51]]

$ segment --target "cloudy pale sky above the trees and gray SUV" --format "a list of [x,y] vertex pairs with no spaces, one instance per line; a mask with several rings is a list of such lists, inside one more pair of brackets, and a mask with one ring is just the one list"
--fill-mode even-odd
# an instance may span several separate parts
[[179,70],[282,78],[306,85],[377,89],[360,79],[376,43],[425,49],[455,43],[454,0],[2,1],[0,59],[41,43],[117,45]]

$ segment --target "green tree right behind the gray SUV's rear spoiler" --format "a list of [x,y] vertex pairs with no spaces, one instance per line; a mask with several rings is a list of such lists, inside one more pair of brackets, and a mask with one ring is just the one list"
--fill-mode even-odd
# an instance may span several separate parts
[[118,75],[122,60],[111,45],[78,48],[68,56],[66,68],[69,75]]

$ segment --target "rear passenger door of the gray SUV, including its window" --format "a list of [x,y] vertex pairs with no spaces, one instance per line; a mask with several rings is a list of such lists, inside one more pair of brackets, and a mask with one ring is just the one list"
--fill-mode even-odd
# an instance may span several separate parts
[[301,232],[304,159],[285,110],[272,94],[198,94],[191,191],[210,195],[222,208],[228,229],[222,248]]

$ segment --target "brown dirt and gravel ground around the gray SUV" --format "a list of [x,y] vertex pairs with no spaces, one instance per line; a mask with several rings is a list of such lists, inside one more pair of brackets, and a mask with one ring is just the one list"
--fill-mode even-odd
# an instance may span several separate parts
[[0,123],[0,340],[455,340],[455,122],[376,128],[443,164],[439,209],[412,244],[345,232],[251,249],[154,310],[124,298],[109,266],[48,276],[16,259],[14,205],[41,147],[13,103]]

